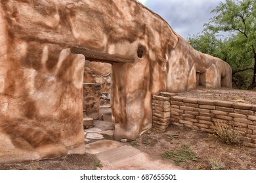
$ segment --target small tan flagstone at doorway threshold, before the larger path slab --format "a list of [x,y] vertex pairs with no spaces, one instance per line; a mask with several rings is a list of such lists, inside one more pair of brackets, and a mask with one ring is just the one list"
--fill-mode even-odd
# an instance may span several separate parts
[[96,141],[96,142],[91,142],[89,144],[86,144],[85,152],[89,154],[97,154],[97,153],[105,152],[107,150],[111,150],[114,148],[119,148],[120,146],[123,146],[123,144],[117,141],[110,141],[110,140]]

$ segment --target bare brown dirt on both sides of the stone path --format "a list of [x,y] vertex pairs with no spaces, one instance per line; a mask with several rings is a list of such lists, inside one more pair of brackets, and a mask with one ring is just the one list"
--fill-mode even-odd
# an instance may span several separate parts
[[[144,133],[137,141],[123,142],[125,145],[146,152],[152,159],[163,159],[165,162],[179,165],[182,169],[219,169],[256,170],[256,149],[245,146],[228,145],[221,142],[215,135],[192,131],[181,127],[170,126],[165,133],[154,129]],[[187,146],[194,152],[196,159],[187,162],[175,161],[163,157],[167,151],[177,152]],[[215,164],[211,164],[215,162]],[[219,165],[222,163],[221,165]],[[91,154],[70,155],[62,158],[28,161],[11,165],[0,165],[1,170],[93,170],[101,164],[96,156]]]

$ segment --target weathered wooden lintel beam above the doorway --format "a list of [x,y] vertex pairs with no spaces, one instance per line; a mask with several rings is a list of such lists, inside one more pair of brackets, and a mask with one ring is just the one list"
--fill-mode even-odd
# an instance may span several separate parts
[[71,52],[74,54],[83,54],[85,59],[89,61],[100,61],[106,63],[133,63],[133,59],[121,58],[121,56],[116,56],[108,54],[106,52],[99,52],[96,50],[89,50],[87,48],[71,48]]

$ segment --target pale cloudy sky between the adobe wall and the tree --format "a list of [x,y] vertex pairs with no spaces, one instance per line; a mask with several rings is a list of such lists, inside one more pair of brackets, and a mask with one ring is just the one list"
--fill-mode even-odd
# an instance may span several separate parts
[[200,33],[203,24],[215,14],[211,13],[223,0],[138,0],[160,14],[184,39]]

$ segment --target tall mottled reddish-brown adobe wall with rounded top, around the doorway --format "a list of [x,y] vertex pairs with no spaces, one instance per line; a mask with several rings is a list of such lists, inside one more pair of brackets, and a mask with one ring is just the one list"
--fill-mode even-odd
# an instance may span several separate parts
[[196,52],[137,1],[0,2],[0,162],[85,151],[85,61],[74,48],[134,61],[112,65],[116,139],[150,129],[152,93],[196,88],[196,71],[207,87],[231,86],[227,63]]

